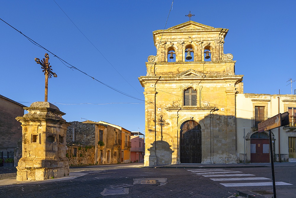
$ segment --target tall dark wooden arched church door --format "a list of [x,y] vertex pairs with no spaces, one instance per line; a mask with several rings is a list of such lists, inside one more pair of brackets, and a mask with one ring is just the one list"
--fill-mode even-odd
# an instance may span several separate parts
[[197,122],[186,121],[181,125],[180,148],[181,163],[201,163],[201,127]]

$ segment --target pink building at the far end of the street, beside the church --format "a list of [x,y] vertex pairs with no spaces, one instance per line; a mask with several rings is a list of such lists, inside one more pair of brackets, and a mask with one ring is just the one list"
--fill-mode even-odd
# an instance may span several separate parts
[[140,132],[131,132],[131,162],[144,162],[144,155],[144,134]]

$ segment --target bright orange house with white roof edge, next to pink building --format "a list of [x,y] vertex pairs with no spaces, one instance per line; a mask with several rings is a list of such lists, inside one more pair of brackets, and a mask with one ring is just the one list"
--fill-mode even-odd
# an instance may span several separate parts
[[131,131],[117,126],[115,124],[110,124],[104,121],[99,121],[98,123],[110,125],[121,130],[121,151],[120,151],[120,163],[130,163],[131,162]]

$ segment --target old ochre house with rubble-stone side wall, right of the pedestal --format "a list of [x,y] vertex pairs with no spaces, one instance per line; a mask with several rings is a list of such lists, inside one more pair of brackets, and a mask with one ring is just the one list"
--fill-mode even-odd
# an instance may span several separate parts
[[70,123],[67,156],[71,165],[120,163],[121,130],[89,120]]

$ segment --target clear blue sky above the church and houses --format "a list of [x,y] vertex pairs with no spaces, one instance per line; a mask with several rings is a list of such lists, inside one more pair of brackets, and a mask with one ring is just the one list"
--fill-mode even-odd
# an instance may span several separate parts
[[[165,27],[172,0],[55,1],[1,0],[0,18],[88,75],[144,100],[138,77],[146,75],[145,61],[156,53],[152,31]],[[244,92],[278,94],[280,89],[281,94],[291,94],[286,81],[296,80],[295,4],[175,0],[166,28],[188,21],[189,10],[193,21],[228,28],[224,53],[232,53],[237,61],[235,72],[244,75]],[[44,101],[44,75],[34,58],[49,52],[3,21],[0,36],[0,94],[26,106]],[[143,101],[69,69],[51,53],[49,58],[58,77],[49,79],[48,101],[66,113],[63,118],[106,121],[143,132]],[[293,94],[294,89],[296,81]]]

